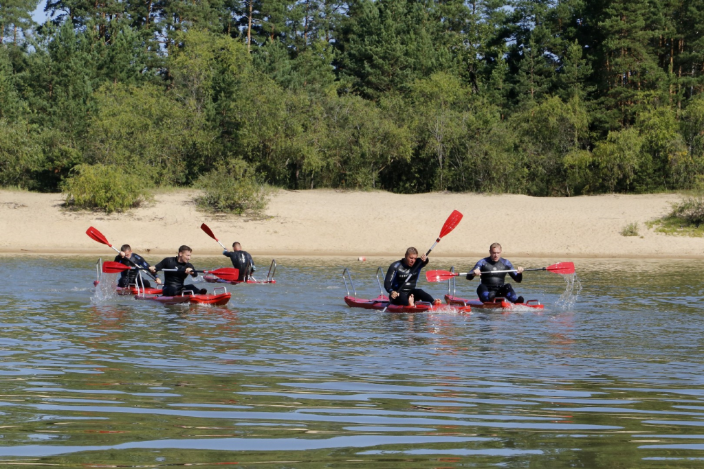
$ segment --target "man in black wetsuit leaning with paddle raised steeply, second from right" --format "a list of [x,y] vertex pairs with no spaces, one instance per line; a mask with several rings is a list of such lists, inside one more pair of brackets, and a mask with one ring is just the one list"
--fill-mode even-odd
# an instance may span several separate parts
[[[417,301],[429,303],[439,303],[432,295],[420,288],[415,288],[415,283],[420,276],[420,270],[427,266],[429,260],[424,255],[418,259],[418,250],[408,248],[406,256],[400,261],[396,261],[389,266],[384,277],[384,289],[389,293],[391,304],[401,304],[404,306],[414,306]],[[420,262],[420,265],[416,265]],[[410,280],[409,280],[410,276]],[[406,282],[408,281],[408,282]]]

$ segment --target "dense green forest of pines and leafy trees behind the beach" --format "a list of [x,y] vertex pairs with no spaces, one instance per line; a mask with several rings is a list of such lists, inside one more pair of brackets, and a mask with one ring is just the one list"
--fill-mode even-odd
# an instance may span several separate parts
[[0,186],[704,182],[704,0],[0,0]]

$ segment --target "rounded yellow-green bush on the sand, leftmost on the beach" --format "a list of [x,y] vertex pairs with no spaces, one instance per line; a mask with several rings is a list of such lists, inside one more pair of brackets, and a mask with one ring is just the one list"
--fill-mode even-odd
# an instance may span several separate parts
[[149,198],[142,181],[117,166],[77,165],[72,173],[63,184],[68,206],[111,213],[139,207]]

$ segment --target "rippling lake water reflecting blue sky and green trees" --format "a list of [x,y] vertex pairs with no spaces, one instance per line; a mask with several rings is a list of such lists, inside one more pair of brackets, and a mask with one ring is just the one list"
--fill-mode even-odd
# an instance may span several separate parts
[[517,291],[543,311],[394,315],[346,307],[341,279],[374,297],[394,259],[282,257],[225,307],[96,293],[96,259],[2,258],[0,465],[704,465],[704,262],[573,259],[572,307],[537,272]]

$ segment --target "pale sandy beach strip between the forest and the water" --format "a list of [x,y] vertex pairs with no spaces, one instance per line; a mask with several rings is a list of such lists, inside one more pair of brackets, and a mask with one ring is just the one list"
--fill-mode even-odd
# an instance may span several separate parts
[[[437,245],[435,256],[483,256],[498,241],[508,257],[704,258],[704,239],[647,229],[677,194],[533,198],[526,195],[369,191],[277,191],[263,219],[196,210],[195,191],[159,193],[125,213],[73,211],[61,194],[0,191],[0,253],[8,255],[108,254],[86,236],[89,226],[117,245],[144,254],[217,255],[206,223],[226,246],[237,240],[253,255],[400,256],[408,246],[425,251],[453,210],[463,221]],[[629,223],[639,237],[624,237]]]

